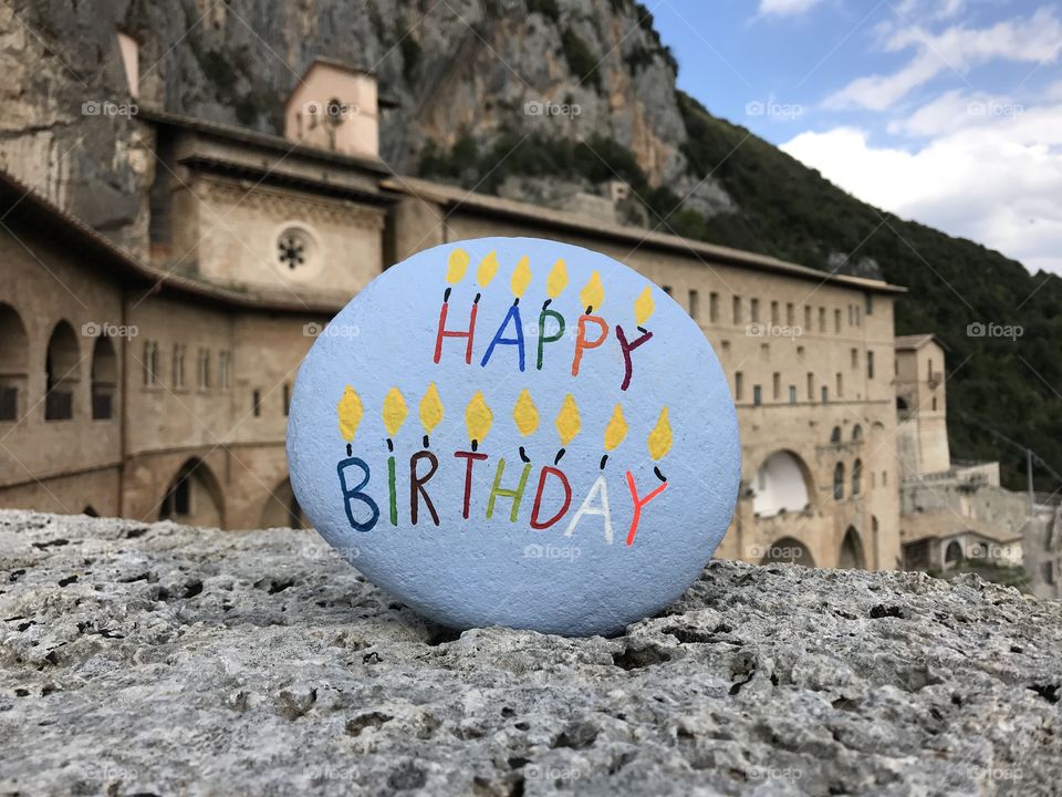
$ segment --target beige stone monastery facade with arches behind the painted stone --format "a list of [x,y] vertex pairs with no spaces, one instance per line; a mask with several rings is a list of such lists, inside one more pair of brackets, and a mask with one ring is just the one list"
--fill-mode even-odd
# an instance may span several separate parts
[[[15,418],[0,422],[17,457],[0,465],[0,505],[223,528],[300,520],[284,464],[287,401],[324,322],[414,251],[523,235],[629,265],[711,341],[743,452],[720,556],[899,563],[893,302],[902,289],[388,177],[372,158],[304,142],[148,110],[140,120],[155,166],[146,234],[131,251],[35,195],[12,216],[23,226],[0,235],[13,277],[0,310],[20,319],[29,340]],[[8,204],[20,205],[19,186],[6,185]],[[62,322],[75,333],[74,413],[45,421],[41,407],[56,392],[46,349]],[[117,362],[107,421],[90,417],[98,338],[82,333],[87,323],[136,330],[106,341]]]

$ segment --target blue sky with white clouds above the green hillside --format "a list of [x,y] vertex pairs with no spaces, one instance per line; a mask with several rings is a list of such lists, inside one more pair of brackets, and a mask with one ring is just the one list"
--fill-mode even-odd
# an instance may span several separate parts
[[867,201],[1062,273],[1062,4],[645,4],[716,115]]

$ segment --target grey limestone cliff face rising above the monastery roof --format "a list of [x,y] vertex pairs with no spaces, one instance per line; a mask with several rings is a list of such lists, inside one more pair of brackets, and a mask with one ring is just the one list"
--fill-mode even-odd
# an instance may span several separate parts
[[[128,102],[118,30],[140,43],[144,106],[278,133],[284,97],[329,56],[376,71],[397,102],[381,131],[396,172],[414,170],[429,139],[468,135],[486,151],[503,134],[597,135],[654,185],[690,179],[674,62],[632,0],[0,6],[0,165],[119,240],[143,232],[154,164],[135,115],[104,106]],[[537,113],[543,103],[577,115]]]

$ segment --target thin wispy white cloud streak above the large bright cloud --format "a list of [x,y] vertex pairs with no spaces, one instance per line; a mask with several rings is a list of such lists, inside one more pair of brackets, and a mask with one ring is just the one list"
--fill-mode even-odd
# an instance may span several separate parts
[[941,72],[964,75],[974,66],[996,60],[1050,63],[1062,51],[1062,22],[1049,8],[1040,9],[1028,19],[1004,20],[983,29],[955,25],[934,34],[904,23],[889,30],[884,49],[889,52],[915,49],[910,61],[892,74],[855,79],[829,96],[826,107],[885,111]]

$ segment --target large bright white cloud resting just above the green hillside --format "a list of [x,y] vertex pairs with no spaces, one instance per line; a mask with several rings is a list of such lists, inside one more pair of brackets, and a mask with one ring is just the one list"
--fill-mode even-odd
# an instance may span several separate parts
[[978,102],[987,101],[951,92],[922,108],[912,130],[938,135],[910,152],[875,146],[854,127],[802,133],[782,149],[900,217],[1062,273],[1062,104],[956,115]]

